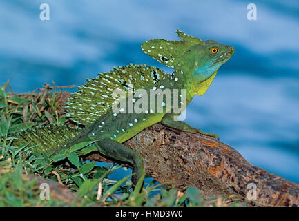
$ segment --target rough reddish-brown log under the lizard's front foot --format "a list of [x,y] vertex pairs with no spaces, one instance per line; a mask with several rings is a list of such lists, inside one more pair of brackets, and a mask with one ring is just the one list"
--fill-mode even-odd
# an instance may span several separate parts
[[[236,194],[244,200],[248,184],[256,184],[255,204],[299,206],[299,184],[253,166],[211,137],[155,124],[124,144],[142,156],[145,172],[160,183],[172,182],[178,189],[195,186],[205,198]],[[97,153],[85,159],[111,162]]]

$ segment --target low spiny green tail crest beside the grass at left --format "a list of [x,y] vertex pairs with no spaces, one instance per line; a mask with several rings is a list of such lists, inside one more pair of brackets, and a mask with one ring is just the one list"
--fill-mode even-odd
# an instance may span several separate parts
[[12,146],[35,146],[37,151],[52,152],[65,148],[69,142],[75,140],[81,130],[68,126],[42,126],[26,129],[18,133]]

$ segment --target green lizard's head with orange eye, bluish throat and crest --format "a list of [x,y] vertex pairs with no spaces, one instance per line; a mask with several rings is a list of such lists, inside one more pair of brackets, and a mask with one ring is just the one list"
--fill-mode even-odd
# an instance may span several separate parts
[[176,32],[183,41],[153,39],[142,44],[142,51],[170,68],[189,74],[192,84],[209,79],[233,55],[232,46]]

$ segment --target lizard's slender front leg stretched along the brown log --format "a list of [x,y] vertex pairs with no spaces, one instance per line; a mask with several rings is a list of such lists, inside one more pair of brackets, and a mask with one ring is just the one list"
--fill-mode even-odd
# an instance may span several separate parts
[[162,120],[161,123],[164,126],[170,127],[170,128],[174,128],[180,131],[184,131],[184,132],[189,132],[189,133],[200,133],[202,135],[206,135],[209,137],[214,137],[216,139],[219,139],[218,135],[215,135],[213,133],[206,133],[204,131],[200,131],[200,129],[194,128],[193,126],[190,126],[189,124],[186,124],[185,122],[182,121],[176,121],[175,119],[177,118],[177,114],[173,114],[173,113],[166,113]]

